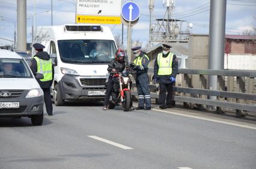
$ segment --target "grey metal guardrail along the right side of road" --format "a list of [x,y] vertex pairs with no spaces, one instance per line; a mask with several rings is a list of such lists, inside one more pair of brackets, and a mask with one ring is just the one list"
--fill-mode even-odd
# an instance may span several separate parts
[[[148,69],[148,73],[153,73],[153,68]],[[245,71],[245,70],[191,70],[191,69],[179,69],[178,74],[183,74],[183,86],[174,86],[174,92],[181,93],[180,95],[174,95],[174,101],[180,101],[184,103],[200,104],[216,106],[219,110],[220,107],[232,108],[237,110],[237,116],[241,115],[241,110],[256,112],[256,93],[245,93],[245,77],[250,81],[248,85],[253,88],[254,78],[256,78],[256,71]],[[191,84],[193,76],[200,76],[199,83],[202,88],[194,88]],[[207,77],[205,76],[218,76],[219,90],[207,89]],[[236,77],[236,91],[230,89],[226,91],[225,77]],[[227,81],[227,80],[226,80]],[[234,81],[233,81],[234,82]],[[203,84],[204,83],[204,84]],[[228,83],[228,82],[226,82]],[[135,86],[135,84],[134,84]],[[136,87],[136,86],[135,86]],[[156,91],[156,85],[149,85],[150,90]],[[253,89],[252,89],[253,90]],[[254,89],[256,90],[256,89]],[[133,95],[137,93],[134,91]],[[207,96],[217,96],[217,100],[207,99]],[[156,92],[151,92],[152,98],[158,98]],[[234,100],[231,100],[234,99]],[[252,101],[252,104],[245,104],[246,101]],[[253,103],[254,102],[254,103]]]

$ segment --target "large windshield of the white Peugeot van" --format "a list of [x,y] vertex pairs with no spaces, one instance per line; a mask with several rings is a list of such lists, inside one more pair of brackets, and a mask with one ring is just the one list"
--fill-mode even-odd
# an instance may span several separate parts
[[62,62],[108,63],[115,57],[112,40],[59,40],[59,55]]

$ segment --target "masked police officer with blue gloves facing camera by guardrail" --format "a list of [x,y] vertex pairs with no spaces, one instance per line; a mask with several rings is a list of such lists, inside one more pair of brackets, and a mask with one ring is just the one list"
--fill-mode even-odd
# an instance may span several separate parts
[[159,108],[161,109],[171,108],[172,87],[178,73],[178,59],[170,52],[170,48],[168,44],[163,44],[163,52],[157,55],[154,62],[154,82],[159,83]]

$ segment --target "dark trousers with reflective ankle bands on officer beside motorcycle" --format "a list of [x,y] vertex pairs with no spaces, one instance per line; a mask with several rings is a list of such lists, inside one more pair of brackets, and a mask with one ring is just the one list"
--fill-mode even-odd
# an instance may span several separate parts
[[148,74],[141,73],[136,76],[136,87],[139,95],[138,107],[151,107],[150,91],[148,90]]

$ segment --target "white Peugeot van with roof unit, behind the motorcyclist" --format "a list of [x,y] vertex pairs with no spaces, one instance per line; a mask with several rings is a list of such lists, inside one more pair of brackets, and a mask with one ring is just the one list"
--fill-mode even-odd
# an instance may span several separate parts
[[107,26],[42,26],[37,28],[34,43],[43,44],[44,51],[55,62],[52,85],[55,105],[63,105],[66,100],[104,99],[108,63],[117,50]]

